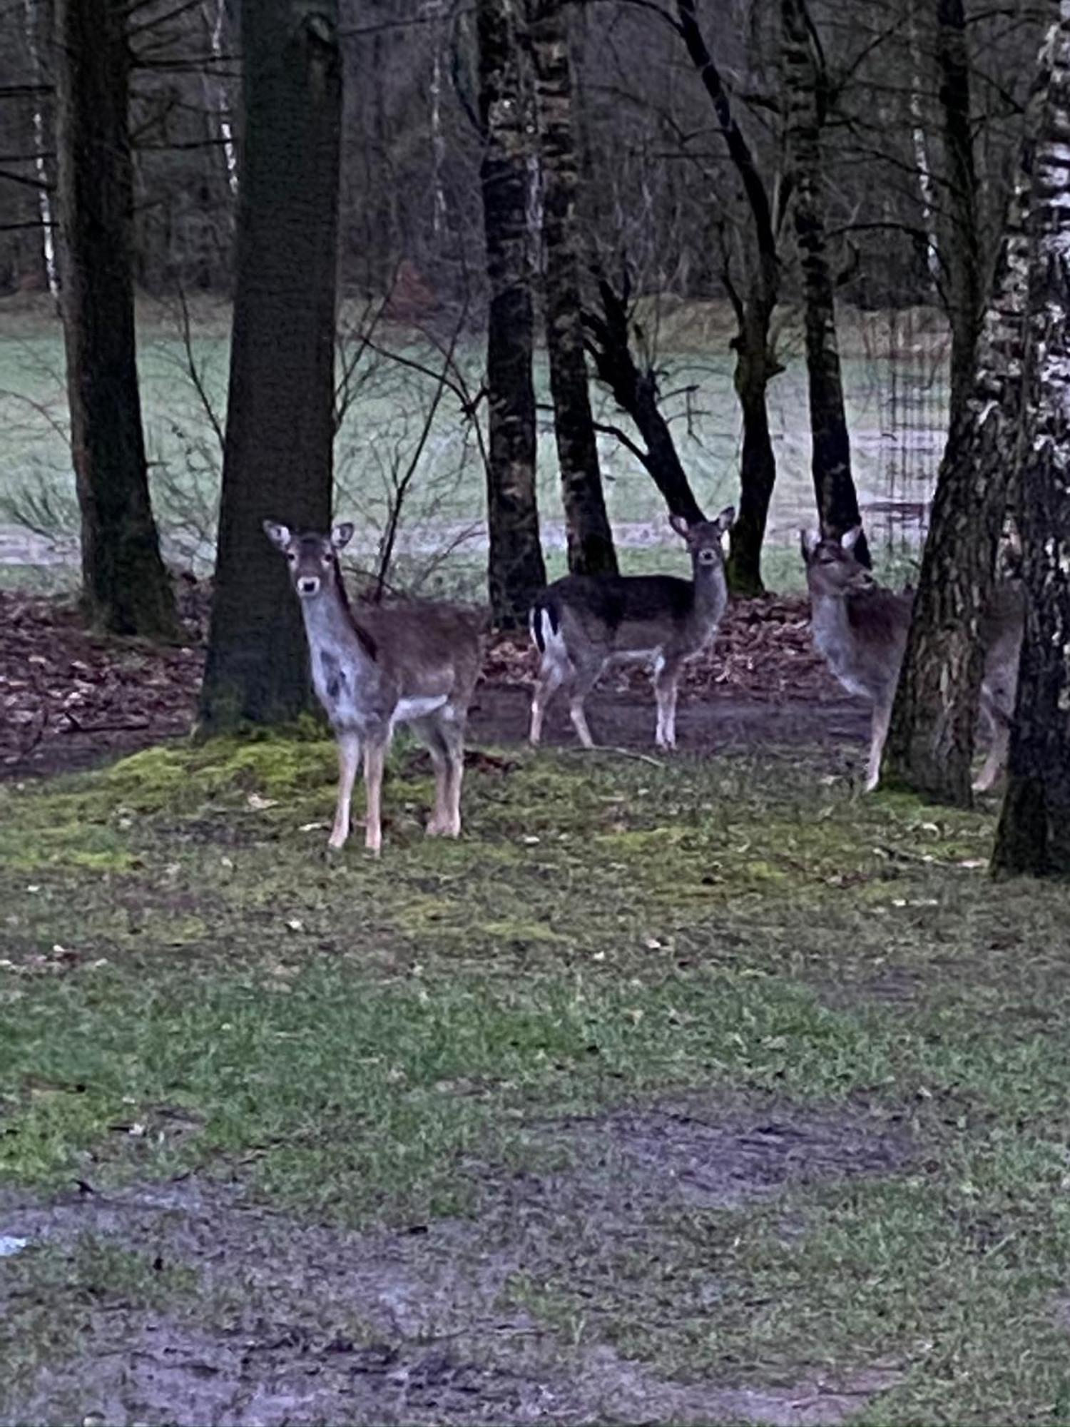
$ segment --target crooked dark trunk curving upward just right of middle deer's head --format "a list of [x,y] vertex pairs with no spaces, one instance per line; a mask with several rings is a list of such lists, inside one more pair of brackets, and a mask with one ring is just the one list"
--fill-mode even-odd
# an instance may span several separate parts
[[776,455],[769,435],[766,388],[772,378],[783,371],[769,337],[780,290],[780,260],[769,194],[750,146],[732,113],[720,71],[699,27],[695,0],[676,0],[676,26],[688,57],[713,106],[720,137],[742,184],[750,214],[752,231],[743,241],[745,290],[738,291],[728,273],[728,264],[722,273],[736,315],[738,331],[732,347],[736,352],[735,387],[743,417],[739,509],[729,538],[728,582],[736,595],[760,595],[765,588],[762,544],[776,482]]

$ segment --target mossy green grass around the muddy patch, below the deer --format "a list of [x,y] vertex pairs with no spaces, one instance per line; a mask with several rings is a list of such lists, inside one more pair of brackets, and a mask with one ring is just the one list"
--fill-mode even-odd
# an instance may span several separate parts
[[[308,738],[0,791],[9,1186],[194,1173],[405,1226],[484,1213],[488,1166],[568,1159],[546,1126],[569,1114],[695,1092],[866,1114],[907,1136],[895,1172],[666,1190],[516,1301],[681,1378],[892,1364],[866,1421],[1070,1421],[1070,895],[990,882],[990,812],[859,798],[798,751],[509,749],[472,768],[454,843],[424,836],[402,746],[375,862],[360,832],[325,853],[332,779]],[[37,1286],[6,1297],[23,1356],[57,1253],[0,1261]],[[198,1291],[148,1279],[157,1306]],[[71,1350],[33,1343],[31,1366]]]

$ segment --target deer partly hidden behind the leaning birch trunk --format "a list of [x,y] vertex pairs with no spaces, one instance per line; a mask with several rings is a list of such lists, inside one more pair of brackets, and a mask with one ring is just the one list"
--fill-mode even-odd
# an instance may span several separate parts
[[[800,531],[806,584],[810,592],[810,628],[817,652],[849,694],[872,706],[866,792],[880,782],[880,761],[892,718],[899,671],[913,612],[913,592],[897,594],[879,585],[855,558],[862,527],[839,539],[819,531]],[[980,718],[990,746],[974,792],[986,792],[1007,762],[1010,723],[1017,692],[1017,666],[1024,625],[1024,595],[1017,581],[1002,581],[984,611],[984,679]]]

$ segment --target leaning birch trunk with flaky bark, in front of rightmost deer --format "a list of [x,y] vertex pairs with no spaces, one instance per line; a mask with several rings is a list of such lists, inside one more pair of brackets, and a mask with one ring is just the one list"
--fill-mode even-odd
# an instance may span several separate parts
[[973,390],[940,462],[914,614],[885,745],[885,782],[960,808],[984,658],[980,625],[1014,465],[1029,281],[1026,210],[1051,49],[1029,103],[1007,221],[977,345]]

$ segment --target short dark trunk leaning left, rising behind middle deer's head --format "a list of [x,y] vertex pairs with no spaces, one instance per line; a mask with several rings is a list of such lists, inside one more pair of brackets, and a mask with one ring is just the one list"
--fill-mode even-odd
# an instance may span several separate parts
[[628,450],[642,461],[653,484],[665,498],[671,515],[685,521],[705,519],[695,492],[683,469],[669,422],[658,405],[658,375],[651,365],[639,370],[628,334],[628,283],[623,294],[613,291],[602,278],[598,284],[601,313],[586,313],[584,323],[589,332],[588,350],[601,381],[609,387],[613,400],[626,411],[643,438],[643,447],[616,432]]

